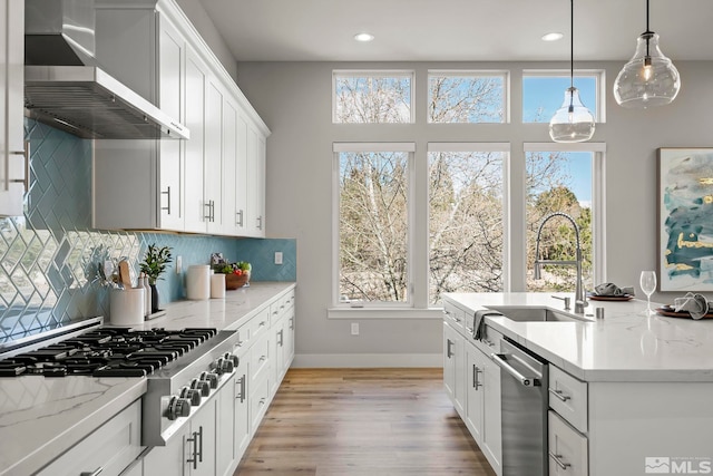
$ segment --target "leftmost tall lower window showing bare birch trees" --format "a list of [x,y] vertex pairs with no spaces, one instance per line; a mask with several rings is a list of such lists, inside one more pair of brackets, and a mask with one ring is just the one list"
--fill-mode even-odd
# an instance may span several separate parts
[[410,303],[413,144],[335,144],[339,302]]

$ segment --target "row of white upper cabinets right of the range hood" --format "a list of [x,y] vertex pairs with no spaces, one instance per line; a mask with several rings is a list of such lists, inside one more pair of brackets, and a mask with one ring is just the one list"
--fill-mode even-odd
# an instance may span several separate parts
[[270,130],[255,109],[175,2],[96,1],[99,62],[191,138],[96,140],[95,227],[264,236]]

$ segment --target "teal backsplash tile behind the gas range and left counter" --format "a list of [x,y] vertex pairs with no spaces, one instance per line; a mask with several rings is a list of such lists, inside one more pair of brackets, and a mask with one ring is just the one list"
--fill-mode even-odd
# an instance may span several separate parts
[[[135,272],[148,244],[170,246],[174,262],[158,282],[163,302],[184,299],[185,271],[211,253],[250,261],[251,281],[295,281],[296,241],[235,239],[91,229],[91,140],[26,119],[30,191],[25,216],[0,218],[0,342],[53,323],[108,314],[98,279],[107,259],[126,258]],[[283,264],[274,264],[274,252]],[[176,274],[175,258],[184,272]]]

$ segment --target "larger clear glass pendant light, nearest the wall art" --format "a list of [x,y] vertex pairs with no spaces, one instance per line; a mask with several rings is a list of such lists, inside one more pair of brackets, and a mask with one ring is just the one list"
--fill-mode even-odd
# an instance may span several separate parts
[[681,89],[678,70],[658,49],[658,35],[648,29],[636,40],[634,57],[614,81],[614,98],[623,107],[645,108],[673,101]]

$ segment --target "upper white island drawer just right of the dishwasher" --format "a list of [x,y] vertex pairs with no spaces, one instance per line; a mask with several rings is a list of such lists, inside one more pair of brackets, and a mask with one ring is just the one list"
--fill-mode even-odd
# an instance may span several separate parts
[[582,433],[587,433],[587,383],[549,366],[549,408]]

